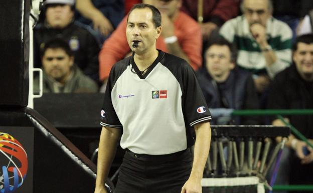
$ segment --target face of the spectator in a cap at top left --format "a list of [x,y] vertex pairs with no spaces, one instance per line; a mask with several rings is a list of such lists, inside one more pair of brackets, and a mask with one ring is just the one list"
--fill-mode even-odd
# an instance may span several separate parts
[[62,29],[71,23],[74,13],[70,5],[49,4],[47,6],[46,20],[52,28]]

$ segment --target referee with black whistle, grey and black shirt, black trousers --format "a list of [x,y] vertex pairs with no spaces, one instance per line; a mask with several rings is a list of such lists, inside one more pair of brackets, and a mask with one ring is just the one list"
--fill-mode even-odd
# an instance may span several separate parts
[[130,10],[126,37],[133,55],[117,62],[108,78],[95,193],[106,193],[120,137],[126,153],[115,193],[202,192],[211,114],[190,65],[156,50],[161,33],[158,9],[136,4]]

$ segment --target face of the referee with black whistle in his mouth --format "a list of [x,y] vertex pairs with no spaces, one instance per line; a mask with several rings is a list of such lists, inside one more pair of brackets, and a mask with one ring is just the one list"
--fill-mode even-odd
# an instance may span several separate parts
[[[155,41],[161,31],[161,27],[154,28],[152,12],[148,8],[135,9],[128,16],[126,38],[130,49],[136,54],[155,49]],[[134,41],[139,42],[137,48],[132,47]]]

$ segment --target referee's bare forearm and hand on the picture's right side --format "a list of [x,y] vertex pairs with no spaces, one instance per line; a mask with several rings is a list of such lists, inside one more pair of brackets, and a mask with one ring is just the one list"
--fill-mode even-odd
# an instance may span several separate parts
[[182,188],[182,193],[202,192],[201,180],[203,177],[204,167],[209,155],[211,144],[211,127],[210,123],[199,123],[195,126],[196,142],[194,150],[194,161],[189,179]]

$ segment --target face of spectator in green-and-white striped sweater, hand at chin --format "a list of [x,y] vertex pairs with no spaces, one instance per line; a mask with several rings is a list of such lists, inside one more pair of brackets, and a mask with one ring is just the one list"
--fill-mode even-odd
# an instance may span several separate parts
[[249,25],[259,23],[266,27],[266,22],[271,16],[267,0],[244,0],[244,16]]

